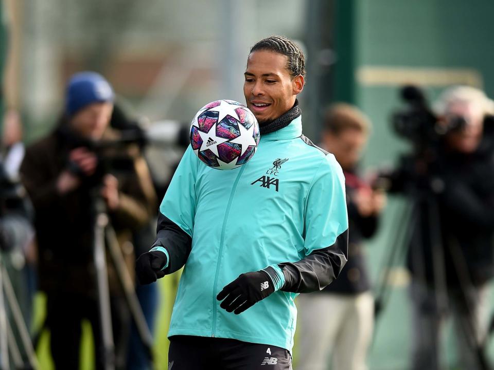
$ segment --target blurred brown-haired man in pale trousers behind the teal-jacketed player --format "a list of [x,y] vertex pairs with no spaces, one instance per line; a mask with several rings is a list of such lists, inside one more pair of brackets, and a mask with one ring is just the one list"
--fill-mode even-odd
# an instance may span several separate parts
[[299,370],[326,370],[330,357],[334,370],[367,368],[374,299],[361,243],[377,230],[378,214],[384,206],[384,195],[373,191],[357,174],[368,131],[368,119],[358,108],[339,103],[327,110],[323,147],[334,154],[346,179],[349,259],[339,278],[322,292],[297,298]]

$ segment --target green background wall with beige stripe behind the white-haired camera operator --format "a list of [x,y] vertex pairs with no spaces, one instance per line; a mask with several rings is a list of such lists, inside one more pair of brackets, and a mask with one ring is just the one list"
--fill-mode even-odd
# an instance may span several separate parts
[[[392,165],[398,153],[408,151],[408,142],[398,138],[390,125],[390,114],[401,103],[398,89],[402,83],[418,83],[434,99],[447,85],[470,83],[485,88],[494,96],[494,2],[479,0],[337,0],[345,3],[354,20],[353,31],[344,25],[343,34],[352,45],[355,75],[354,103],[372,120],[373,133],[363,160],[364,167]],[[352,3],[351,5],[349,3]],[[340,28],[336,29],[338,32]],[[341,39],[340,42],[344,42]],[[340,46],[344,52],[346,45]],[[337,45],[337,53],[338,53]],[[345,68],[342,68],[343,71]],[[338,75],[339,65],[335,67]],[[386,72],[387,71],[387,72]],[[399,77],[399,71],[406,74]],[[338,81],[338,77],[336,77]],[[340,94],[335,85],[334,96]],[[369,265],[375,281],[379,279],[381,260],[392,244],[392,234],[403,225],[396,224],[403,202],[389,199],[382,228],[368,243]],[[396,272],[400,272],[397,269]],[[406,276],[398,273],[390,304],[378,322],[373,345],[371,369],[408,368],[411,324]],[[489,297],[490,298],[490,297]],[[491,305],[492,306],[492,305]],[[492,312],[492,310],[489,310]],[[447,328],[449,332],[450,328]],[[444,341],[445,357],[451,363],[455,349]],[[492,353],[492,345],[489,346]],[[492,357],[492,356],[491,356]]]

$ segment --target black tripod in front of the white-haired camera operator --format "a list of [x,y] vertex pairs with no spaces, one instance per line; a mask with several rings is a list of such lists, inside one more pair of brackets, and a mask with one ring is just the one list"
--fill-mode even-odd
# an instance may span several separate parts
[[[385,303],[389,299],[390,288],[387,287],[387,284],[390,280],[391,267],[402,261],[409,246],[418,246],[410,253],[411,267],[416,276],[415,280],[418,281],[419,285],[427,285],[426,260],[429,258],[432,264],[433,285],[431,290],[434,293],[434,306],[438,315],[443,314],[448,309],[452,291],[447,282],[445,245],[443,243],[437,196],[431,190],[414,189],[413,192],[409,193],[409,197],[409,204],[411,205],[405,209],[399,219],[399,227],[404,226],[405,229],[402,231],[399,227],[397,228],[393,239],[393,248],[385,258],[383,279],[378,286],[376,294],[376,317],[382,313]],[[422,216],[425,216],[425,219]],[[423,225],[429,226],[429,232],[426,235],[422,232]],[[413,230],[414,227],[416,227],[415,230]],[[415,239],[412,239],[412,235],[414,235]],[[431,255],[428,257],[420,247],[424,243],[431,248]],[[476,335],[474,313],[472,312],[468,295],[468,292],[476,293],[476,290],[459,243],[454,238],[449,238],[447,243],[451,268],[460,283],[458,287],[460,293],[459,302],[467,313],[465,317],[460,315],[460,327],[468,349],[478,364],[478,368],[487,370],[491,367],[485,354],[485,339],[479,339]]]

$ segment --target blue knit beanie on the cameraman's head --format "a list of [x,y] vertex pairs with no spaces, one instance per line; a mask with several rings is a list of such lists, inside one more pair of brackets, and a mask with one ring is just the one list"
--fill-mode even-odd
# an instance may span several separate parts
[[99,73],[79,72],[68,81],[65,98],[65,113],[73,116],[92,103],[113,103],[115,94],[112,86]]

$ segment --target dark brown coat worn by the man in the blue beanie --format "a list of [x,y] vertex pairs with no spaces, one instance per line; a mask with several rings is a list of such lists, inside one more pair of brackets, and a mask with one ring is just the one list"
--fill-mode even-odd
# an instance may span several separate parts
[[[105,140],[115,138],[118,132],[111,128],[103,136]],[[70,133],[62,122],[46,138],[27,148],[21,166],[22,181],[36,213],[40,288],[48,294],[75,292],[95,297],[92,205],[105,173],[118,179],[120,206],[109,212],[109,218],[131,273],[135,260],[132,232],[145,225],[155,212],[151,177],[137,147],[98,151],[97,173],[85,178],[76,190],[58,194],[57,178],[67,169],[69,151],[87,144]],[[108,253],[107,261],[110,261]],[[111,263],[108,270],[110,290],[116,294],[119,284]]]

